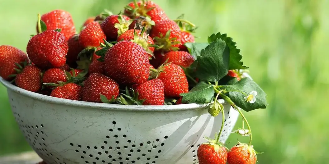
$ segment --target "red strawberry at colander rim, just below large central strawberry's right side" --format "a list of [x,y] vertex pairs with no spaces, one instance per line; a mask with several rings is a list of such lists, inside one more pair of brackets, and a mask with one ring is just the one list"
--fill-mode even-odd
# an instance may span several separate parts
[[164,83],[160,79],[146,81],[136,87],[138,99],[143,105],[164,105]]

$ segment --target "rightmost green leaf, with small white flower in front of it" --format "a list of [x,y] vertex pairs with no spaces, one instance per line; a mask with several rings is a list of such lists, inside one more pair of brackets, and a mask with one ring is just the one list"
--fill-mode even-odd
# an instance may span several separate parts
[[[265,109],[268,105],[266,101],[266,93],[249,77],[242,78],[240,81],[235,83],[234,85],[226,85],[223,86],[228,92],[228,96],[231,100],[241,109],[246,112],[255,110],[255,109]],[[230,91],[231,90],[231,91]],[[237,91],[232,91],[237,90]],[[244,100],[244,97],[249,95],[251,91],[256,91],[256,101],[254,103],[247,103]],[[241,93],[243,92],[243,93]]]

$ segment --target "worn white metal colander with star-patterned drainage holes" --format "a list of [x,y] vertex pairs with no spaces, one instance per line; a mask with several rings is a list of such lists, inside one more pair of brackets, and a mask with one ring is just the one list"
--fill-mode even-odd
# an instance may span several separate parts
[[[222,123],[206,105],[125,106],[72,101],[20,89],[0,78],[32,148],[49,164],[197,163],[203,136]],[[238,113],[224,101],[225,142]]]

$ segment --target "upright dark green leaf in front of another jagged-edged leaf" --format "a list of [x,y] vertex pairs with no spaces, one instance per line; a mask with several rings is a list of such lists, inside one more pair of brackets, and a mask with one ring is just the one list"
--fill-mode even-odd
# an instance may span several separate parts
[[202,81],[217,82],[228,73],[230,52],[226,43],[216,39],[197,57],[196,76]]

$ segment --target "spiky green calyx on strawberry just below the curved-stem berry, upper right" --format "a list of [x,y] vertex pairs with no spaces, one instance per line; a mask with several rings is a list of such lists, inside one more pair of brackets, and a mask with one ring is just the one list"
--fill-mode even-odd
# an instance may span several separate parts
[[165,35],[160,33],[160,37],[154,37],[154,41],[156,45],[159,45],[157,50],[162,51],[178,51],[179,48],[175,47],[175,45],[180,44],[181,42],[177,40],[177,38],[170,38],[171,30],[168,30]]

